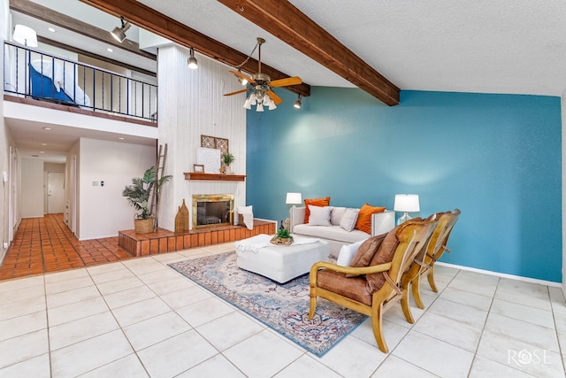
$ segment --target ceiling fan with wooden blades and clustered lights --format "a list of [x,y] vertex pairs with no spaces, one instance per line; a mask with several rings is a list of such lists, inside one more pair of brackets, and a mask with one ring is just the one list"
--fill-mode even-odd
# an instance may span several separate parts
[[[251,105],[257,105],[256,112],[264,112],[264,105],[267,106],[269,110],[273,110],[277,108],[277,105],[283,102],[281,97],[277,96],[277,94],[273,92],[272,88],[287,87],[289,85],[297,85],[302,83],[302,79],[299,76],[292,76],[286,79],[272,81],[268,74],[262,73],[262,44],[264,42],[264,38],[258,37],[256,47],[249,54],[249,57],[246,59],[246,61],[244,61],[244,63],[242,63],[240,66],[237,66],[238,71],[230,71],[230,73],[233,73],[234,75],[236,75],[236,77],[238,77],[242,85],[247,86],[249,84],[250,87],[246,89],[236,90],[235,92],[231,93],[226,93],[224,95],[233,96],[251,91],[249,97],[246,98],[244,108],[251,109]],[[259,49],[257,58],[257,73],[254,73],[251,75],[251,77],[249,77],[248,75],[241,73],[240,67],[248,61],[248,59],[251,57],[251,54],[254,53],[256,48]]]

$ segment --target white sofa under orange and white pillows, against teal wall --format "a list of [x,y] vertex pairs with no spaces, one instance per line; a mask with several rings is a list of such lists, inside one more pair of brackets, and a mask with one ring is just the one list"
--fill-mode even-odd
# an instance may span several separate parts
[[[333,206],[340,209],[340,207]],[[344,209],[341,207],[341,209]],[[386,210],[371,215],[371,235],[359,229],[347,231],[340,227],[340,221],[334,221],[331,226],[311,226],[304,224],[305,207],[291,207],[289,211],[291,232],[324,239],[330,245],[330,258],[338,258],[340,248],[344,244],[351,244],[367,239],[368,237],[385,234],[395,227],[395,212]],[[338,223],[338,224],[336,224]]]

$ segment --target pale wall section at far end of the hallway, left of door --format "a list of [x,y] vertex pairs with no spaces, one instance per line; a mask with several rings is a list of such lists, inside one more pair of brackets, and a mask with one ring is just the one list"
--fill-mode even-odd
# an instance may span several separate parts
[[43,160],[22,158],[21,198],[23,218],[43,216]]

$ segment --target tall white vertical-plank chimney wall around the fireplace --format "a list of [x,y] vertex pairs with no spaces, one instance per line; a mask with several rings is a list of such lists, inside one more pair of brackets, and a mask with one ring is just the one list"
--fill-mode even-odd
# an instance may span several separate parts
[[159,198],[159,227],[173,231],[182,200],[190,211],[194,194],[233,194],[235,206],[246,204],[245,182],[187,181],[183,174],[193,170],[201,135],[228,139],[233,172],[246,174],[245,95],[223,96],[241,89],[228,66],[195,55],[199,66],[191,70],[188,50],[175,45],[159,48],[157,56],[159,144],[167,143],[165,174],[173,175]]

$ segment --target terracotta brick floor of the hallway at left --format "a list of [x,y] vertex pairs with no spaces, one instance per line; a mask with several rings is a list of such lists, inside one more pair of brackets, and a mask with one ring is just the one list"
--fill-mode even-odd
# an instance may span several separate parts
[[21,220],[0,266],[0,280],[134,258],[118,247],[118,236],[80,242],[63,214]]

